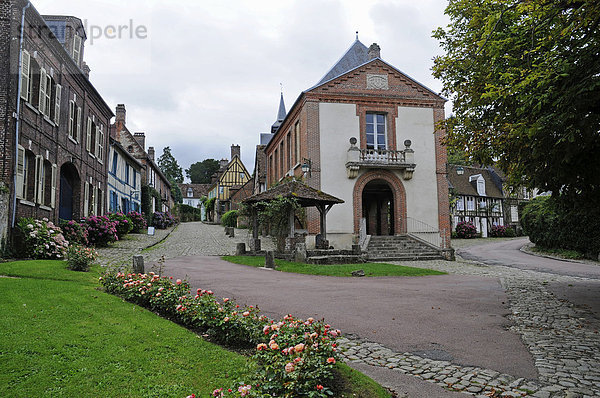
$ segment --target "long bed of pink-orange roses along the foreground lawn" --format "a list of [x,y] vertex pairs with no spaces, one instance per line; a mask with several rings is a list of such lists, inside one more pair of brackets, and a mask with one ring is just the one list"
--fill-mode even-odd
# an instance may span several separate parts
[[154,273],[107,273],[100,278],[106,291],[159,313],[211,340],[237,347],[255,347],[257,371],[252,380],[214,390],[215,397],[307,396],[326,397],[337,361],[336,338],[323,321],[287,315],[279,322],[259,314],[253,306],[221,301],[210,290],[190,292],[187,282]]

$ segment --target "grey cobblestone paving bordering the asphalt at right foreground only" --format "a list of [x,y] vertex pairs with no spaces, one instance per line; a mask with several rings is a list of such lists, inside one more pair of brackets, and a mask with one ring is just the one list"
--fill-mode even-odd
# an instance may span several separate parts
[[[400,263],[398,263],[400,264]],[[456,262],[402,262],[453,274],[498,278],[507,292],[513,321],[534,357],[538,380],[526,380],[450,362],[434,361],[410,353],[396,353],[377,343],[355,341],[340,344],[350,363],[382,366],[448,389],[479,397],[600,396],[600,335],[598,319],[585,308],[557,299],[546,289],[550,282],[577,283],[585,278],[552,275],[504,266],[487,266],[462,259]],[[600,284],[598,285],[600,287]]]

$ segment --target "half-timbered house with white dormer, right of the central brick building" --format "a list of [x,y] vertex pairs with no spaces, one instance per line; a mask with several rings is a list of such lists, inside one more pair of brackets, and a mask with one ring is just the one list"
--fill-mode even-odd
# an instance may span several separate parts
[[502,178],[491,168],[448,165],[452,229],[462,221],[473,223],[482,237],[505,222]]

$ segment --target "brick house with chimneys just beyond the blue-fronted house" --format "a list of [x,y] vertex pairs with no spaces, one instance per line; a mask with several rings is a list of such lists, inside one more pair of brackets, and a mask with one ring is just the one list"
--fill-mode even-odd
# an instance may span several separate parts
[[[160,196],[160,206],[155,197],[148,203],[150,211],[170,211],[175,204],[171,194],[171,183],[162,173],[154,160],[154,147],[148,147],[146,152],[146,134],[136,132],[131,134],[126,125],[127,113],[124,104],[118,104],[115,123],[111,126],[111,136],[118,141],[139,163],[142,164],[141,185],[151,187]],[[142,203],[145,207],[145,203]]]

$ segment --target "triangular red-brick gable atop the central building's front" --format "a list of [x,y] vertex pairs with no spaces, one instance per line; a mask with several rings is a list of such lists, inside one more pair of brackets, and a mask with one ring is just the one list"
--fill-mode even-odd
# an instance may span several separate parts
[[317,85],[308,92],[445,101],[443,97],[379,58]]

